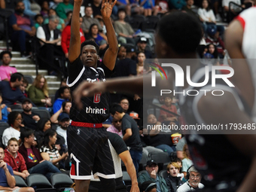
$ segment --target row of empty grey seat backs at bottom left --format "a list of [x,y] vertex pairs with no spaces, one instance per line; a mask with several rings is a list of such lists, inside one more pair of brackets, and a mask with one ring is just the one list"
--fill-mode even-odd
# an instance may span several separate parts
[[18,187],[33,187],[35,191],[47,191],[47,192],[59,192],[64,191],[65,188],[69,188],[74,183],[69,175],[65,173],[53,173],[51,175],[51,181],[41,174],[34,173],[27,177],[26,181],[18,176],[14,175],[16,180],[16,186]]

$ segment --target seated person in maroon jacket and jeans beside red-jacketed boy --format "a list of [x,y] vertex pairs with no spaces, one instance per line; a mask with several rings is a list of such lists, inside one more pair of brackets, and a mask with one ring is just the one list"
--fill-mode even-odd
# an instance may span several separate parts
[[38,149],[33,146],[33,143],[35,142],[33,130],[23,130],[23,132],[20,134],[20,139],[22,140],[23,144],[20,146],[19,152],[22,154],[26,162],[26,167],[29,174],[41,173],[50,181],[50,175],[53,175],[55,172],[60,172],[56,166],[53,166],[53,163],[43,160]]

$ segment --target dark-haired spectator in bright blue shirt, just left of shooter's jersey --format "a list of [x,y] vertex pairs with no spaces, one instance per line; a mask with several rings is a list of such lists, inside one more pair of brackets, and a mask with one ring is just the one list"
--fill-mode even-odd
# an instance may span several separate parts
[[69,87],[60,87],[59,88],[59,98],[53,103],[53,114],[59,111],[62,108],[62,102],[69,101],[71,99],[71,94]]

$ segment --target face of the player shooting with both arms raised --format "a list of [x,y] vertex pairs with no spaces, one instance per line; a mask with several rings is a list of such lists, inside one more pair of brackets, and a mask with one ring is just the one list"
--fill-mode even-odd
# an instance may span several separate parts
[[96,47],[91,44],[85,45],[81,53],[81,61],[83,62],[84,66],[96,68],[97,60],[98,54],[96,51]]

